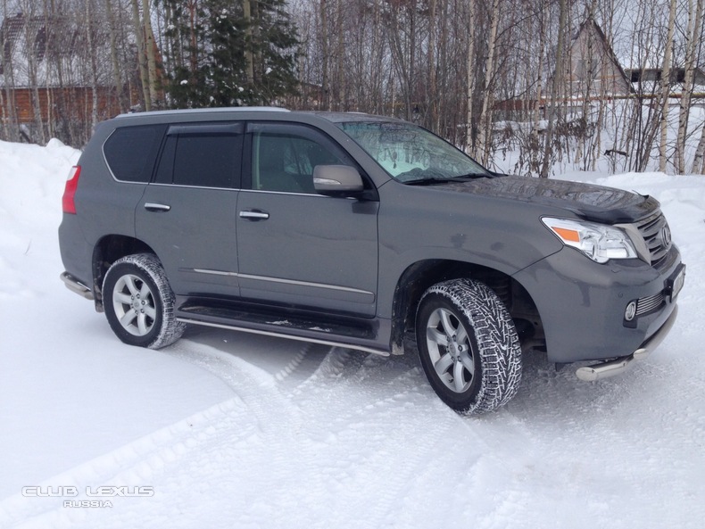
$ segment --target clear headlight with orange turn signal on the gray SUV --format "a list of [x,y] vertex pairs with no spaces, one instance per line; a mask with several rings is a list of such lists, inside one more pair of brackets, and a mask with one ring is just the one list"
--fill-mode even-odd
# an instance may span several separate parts
[[634,243],[618,227],[572,219],[541,219],[563,244],[577,248],[596,262],[637,257]]

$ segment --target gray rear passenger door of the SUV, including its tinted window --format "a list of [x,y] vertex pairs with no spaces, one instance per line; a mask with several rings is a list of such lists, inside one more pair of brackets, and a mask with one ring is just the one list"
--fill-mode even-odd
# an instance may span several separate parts
[[153,183],[137,205],[137,237],[182,295],[238,294],[236,204],[244,124],[171,125]]

